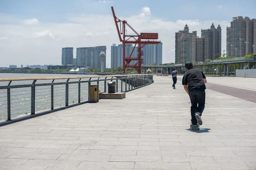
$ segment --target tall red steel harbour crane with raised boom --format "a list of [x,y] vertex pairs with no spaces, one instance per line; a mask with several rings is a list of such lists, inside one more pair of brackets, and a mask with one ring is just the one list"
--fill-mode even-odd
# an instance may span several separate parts
[[[143,59],[141,58],[143,56],[143,52],[141,51],[141,48],[143,48],[146,44],[159,44],[161,41],[157,40],[158,33],[138,34],[138,32],[136,32],[126,21],[121,21],[115,16],[113,7],[111,7],[111,9],[112,9],[117,33],[119,36],[119,40],[120,42],[123,43],[123,72],[125,73],[126,68],[135,68],[138,71],[138,73],[141,73],[141,64],[143,64]],[[120,23],[120,30],[118,27],[118,23]],[[125,34],[126,26],[128,26],[135,34],[133,35]],[[121,34],[123,35],[123,39],[121,37]],[[125,44],[135,44],[129,57],[125,57]],[[138,56],[131,57],[137,44],[138,44]],[[134,65],[131,65],[130,62],[133,60],[137,62]]]

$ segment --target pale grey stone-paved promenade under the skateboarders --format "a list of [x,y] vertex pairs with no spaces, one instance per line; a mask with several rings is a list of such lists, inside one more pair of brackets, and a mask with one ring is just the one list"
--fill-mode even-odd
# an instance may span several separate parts
[[[217,88],[228,84],[225,79],[209,83]],[[207,89],[203,125],[191,131],[181,82],[172,89],[170,76],[154,81],[122,100],[101,99],[0,127],[0,169],[256,169],[256,103]]]

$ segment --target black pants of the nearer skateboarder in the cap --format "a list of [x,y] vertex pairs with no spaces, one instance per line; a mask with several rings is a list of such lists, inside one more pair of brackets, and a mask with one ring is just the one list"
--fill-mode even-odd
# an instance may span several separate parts
[[188,94],[191,101],[191,123],[197,124],[195,114],[199,113],[202,116],[205,108],[205,90],[191,90]]

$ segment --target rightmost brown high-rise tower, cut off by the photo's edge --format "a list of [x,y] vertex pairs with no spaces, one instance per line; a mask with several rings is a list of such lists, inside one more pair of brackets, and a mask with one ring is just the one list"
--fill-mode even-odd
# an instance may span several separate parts
[[256,52],[256,19],[233,17],[226,28],[227,56],[245,56]]

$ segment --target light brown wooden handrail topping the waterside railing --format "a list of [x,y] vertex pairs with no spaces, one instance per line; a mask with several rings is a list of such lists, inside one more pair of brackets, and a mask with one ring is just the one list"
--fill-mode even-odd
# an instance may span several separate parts
[[150,74],[125,74],[125,75],[104,75],[104,76],[65,76],[65,77],[17,77],[17,78],[0,78],[0,82],[6,81],[22,81],[22,80],[58,80],[58,79],[86,79],[86,78],[101,78],[101,77],[123,77],[123,76],[145,76]]

